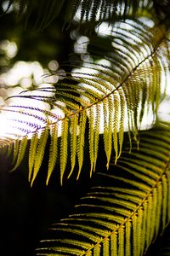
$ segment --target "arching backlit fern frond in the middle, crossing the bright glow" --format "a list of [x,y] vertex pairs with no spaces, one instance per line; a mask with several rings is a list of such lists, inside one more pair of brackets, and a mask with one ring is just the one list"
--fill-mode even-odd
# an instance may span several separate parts
[[[68,74],[66,82],[56,84],[55,88],[43,87],[39,94],[31,92],[31,95],[15,96],[16,103],[1,108],[0,118],[13,130],[4,131],[0,145],[10,147],[9,144],[14,143],[14,162],[15,156],[19,158],[14,168],[24,155],[26,143],[33,140],[29,155],[31,183],[42,163],[48,131],[51,132],[48,179],[59,160],[62,183],[65,166],[70,160],[69,176],[76,161],[79,166],[77,177],[80,175],[87,126],[92,174],[98,154],[99,132],[104,133],[106,164],[109,166],[112,148],[115,161],[121,155],[126,125],[138,143],[144,113],[151,109],[156,115],[161,100],[161,79],[167,79],[169,65],[169,46],[163,29],[150,29],[139,20],[125,20],[116,24],[111,36],[104,37],[111,46],[105,48],[102,44],[96,49],[94,55],[99,61],[82,63],[81,68],[79,66]],[[25,101],[18,103],[19,100]],[[47,108],[33,107],[35,102],[43,102]],[[61,137],[59,143],[57,137]],[[25,141],[23,145],[20,144],[22,140]],[[71,157],[67,154],[70,149]]]

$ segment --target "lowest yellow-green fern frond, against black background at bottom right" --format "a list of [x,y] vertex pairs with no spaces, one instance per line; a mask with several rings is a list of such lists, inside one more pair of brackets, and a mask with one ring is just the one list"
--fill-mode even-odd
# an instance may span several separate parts
[[52,225],[37,255],[143,255],[170,222],[169,137],[164,123],[142,132],[133,154],[127,145],[69,218]]

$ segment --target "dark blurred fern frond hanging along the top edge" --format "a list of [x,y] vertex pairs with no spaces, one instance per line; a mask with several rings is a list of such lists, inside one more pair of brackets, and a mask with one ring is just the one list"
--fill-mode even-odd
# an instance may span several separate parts
[[94,23],[95,21],[107,20],[109,22],[116,20],[117,16],[124,17],[127,13],[135,14],[139,7],[150,7],[150,1],[144,0],[122,1],[122,0],[8,0],[8,11],[11,4],[18,4],[19,14],[29,20],[31,15],[36,12],[37,18],[35,26],[42,29],[63,12],[65,23],[70,24],[73,20],[78,19],[79,23],[83,21]]

